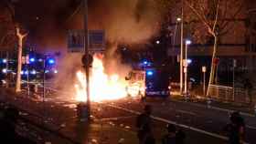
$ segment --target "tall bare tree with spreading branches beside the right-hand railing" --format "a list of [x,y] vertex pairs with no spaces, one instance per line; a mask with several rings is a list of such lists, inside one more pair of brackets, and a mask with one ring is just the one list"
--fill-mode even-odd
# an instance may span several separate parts
[[[216,63],[217,49],[219,45],[219,36],[225,35],[229,32],[230,26],[236,21],[237,16],[240,14],[243,7],[242,0],[185,0],[186,5],[196,15],[196,20],[192,20],[195,23],[199,23],[203,26],[203,30],[207,30],[208,33],[199,32],[201,35],[211,36],[214,39],[213,51],[211,58],[210,77],[208,80],[208,92],[209,86],[213,83],[216,75]],[[191,15],[190,15],[191,16]],[[192,16],[191,16],[192,17]],[[198,32],[195,32],[198,34]],[[198,36],[204,37],[205,36]]]

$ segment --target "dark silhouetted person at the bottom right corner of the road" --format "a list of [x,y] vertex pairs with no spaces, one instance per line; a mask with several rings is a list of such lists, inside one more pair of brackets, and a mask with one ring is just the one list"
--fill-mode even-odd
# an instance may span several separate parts
[[239,112],[230,115],[230,123],[225,127],[229,133],[229,144],[242,144],[245,139],[245,124]]

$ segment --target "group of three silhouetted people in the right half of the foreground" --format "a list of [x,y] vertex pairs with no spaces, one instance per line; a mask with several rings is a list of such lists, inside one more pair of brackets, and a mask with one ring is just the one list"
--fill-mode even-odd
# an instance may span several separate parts
[[[152,107],[144,106],[144,112],[136,119],[137,137],[139,144],[155,144],[153,133],[153,119],[151,118]],[[229,117],[229,124],[224,130],[229,137],[229,144],[243,144],[245,139],[245,123],[239,112],[233,112]],[[184,144],[186,133],[182,129],[177,129],[175,125],[168,124],[166,134],[161,139],[162,144]]]

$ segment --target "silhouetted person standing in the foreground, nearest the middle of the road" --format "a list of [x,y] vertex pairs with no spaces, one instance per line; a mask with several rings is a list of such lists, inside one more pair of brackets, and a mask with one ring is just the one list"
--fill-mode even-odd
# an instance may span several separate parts
[[144,113],[139,115],[136,119],[136,127],[138,129],[139,144],[155,144],[155,139],[152,133],[152,107],[146,105],[144,107]]

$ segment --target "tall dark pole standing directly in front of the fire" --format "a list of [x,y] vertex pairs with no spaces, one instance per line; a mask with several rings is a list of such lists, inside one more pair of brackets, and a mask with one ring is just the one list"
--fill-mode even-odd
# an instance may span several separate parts
[[88,30],[88,1],[84,0],[84,55],[86,57],[85,75],[86,75],[86,96],[87,96],[87,114],[88,119],[91,116],[90,101],[90,67],[89,67],[89,30]]

